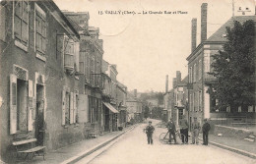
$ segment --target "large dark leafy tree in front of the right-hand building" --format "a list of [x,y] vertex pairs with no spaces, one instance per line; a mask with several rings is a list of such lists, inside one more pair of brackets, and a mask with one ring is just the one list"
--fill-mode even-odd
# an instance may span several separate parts
[[213,56],[214,77],[217,83],[212,85],[214,97],[219,100],[219,108],[230,106],[247,109],[255,105],[255,23],[234,22],[226,27],[227,42],[224,50]]

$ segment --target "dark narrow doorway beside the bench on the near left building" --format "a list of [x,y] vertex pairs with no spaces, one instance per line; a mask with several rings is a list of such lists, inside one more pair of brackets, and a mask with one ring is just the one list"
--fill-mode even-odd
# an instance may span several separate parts
[[43,85],[36,84],[35,137],[37,145],[43,145],[44,126]]

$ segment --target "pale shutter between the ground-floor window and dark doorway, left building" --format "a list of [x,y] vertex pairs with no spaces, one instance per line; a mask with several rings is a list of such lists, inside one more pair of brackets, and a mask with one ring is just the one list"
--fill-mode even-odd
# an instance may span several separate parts
[[33,111],[33,106],[32,106],[32,95],[33,95],[33,91],[32,91],[32,81],[29,80],[29,112],[28,112],[28,130],[32,131],[32,124],[33,124],[33,120],[32,120],[32,111]]

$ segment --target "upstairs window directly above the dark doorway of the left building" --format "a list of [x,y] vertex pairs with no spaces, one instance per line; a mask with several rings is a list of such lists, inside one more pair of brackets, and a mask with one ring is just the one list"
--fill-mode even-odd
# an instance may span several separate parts
[[46,51],[46,15],[35,4],[35,50],[41,56]]

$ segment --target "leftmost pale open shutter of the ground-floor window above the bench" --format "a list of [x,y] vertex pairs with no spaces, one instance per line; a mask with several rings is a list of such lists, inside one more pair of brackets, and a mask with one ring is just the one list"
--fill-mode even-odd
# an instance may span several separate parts
[[17,77],[10,75],[10,134],[17,132]]

